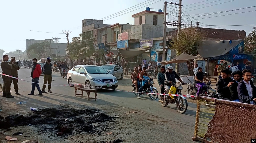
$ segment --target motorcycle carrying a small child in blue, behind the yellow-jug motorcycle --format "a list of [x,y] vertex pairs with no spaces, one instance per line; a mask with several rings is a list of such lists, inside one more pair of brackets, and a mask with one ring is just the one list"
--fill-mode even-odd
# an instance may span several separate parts
[[[148,80],[148,84],[149,86],[146,88],[146,89],[142,89],[142,93],[140,93],[140,95],[147,95],[147,93],[158,93],[157,89],[155,87],[153,87],[153,84],[154,84],[154,81],[153,79],[150,79]],[[133,92],[135,94],[135,96],[138,97],[138,92],[136,92],[136,87],[135,87],[135,84],[132,85],[133,87]],[[152,99],[152,100],[156,100],[158,98],[158,95],[157,94],[148,94],[149,97]]]

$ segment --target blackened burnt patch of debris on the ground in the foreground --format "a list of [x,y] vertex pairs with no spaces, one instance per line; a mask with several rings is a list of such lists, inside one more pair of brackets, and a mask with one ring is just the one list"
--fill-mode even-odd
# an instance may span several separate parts
[[[58,136],[72,134],[73,132],[86,132],[101,134],[107,127],[108,121],[116,117],[106,115],[104,112],[92,109],[45,108],[34,111],[30,116],[10,115],[1,120],[2,128],[13,126],[36,126],[38,132],[55,134]],[[1,123],[0,122],[0,123]]]

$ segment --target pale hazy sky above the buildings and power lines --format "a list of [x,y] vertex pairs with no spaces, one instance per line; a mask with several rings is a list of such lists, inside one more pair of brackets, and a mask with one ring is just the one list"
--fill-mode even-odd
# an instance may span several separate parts
[[[174,3],[176,1],[177,0],[173,0]],[[172,1],[169,0],[167,2]],[[138,4],[140,4],[141,6]],[[134,19],[131,17],[131,15],[145,10],[145,7],[154,8],[155,11],[157,11],[158,9],[163,9],[164,0],[1,0],[0,5],[0,26],[2,32],[0,36],[0,49],[4,49],[5,52],[10,52],[15,51],[16,49],[24,51],[26,49],[26,39],[41,40],[52,39],[52,37],[59,37],[62,38],[59,40],[59,42],[66,43],[66,35],[61,34],[62,31],[72,31],[72,33],[69,35],[70,39],[72,37],[78,36],[78,34],[82,32],[83,19],[102,19],[104,24],[134,24]],[[195,17],[194,19],[192,19],[194,21],[193,24],[196,24],[195,22],[199,21],[201,22],[201,27],[206,27],[204,25],[256,25],[256,7],[208,16],[201,16],[202,13],[211,14],[212,12],[220,12],[256,6],[255,0],[182,0],[182,5],[184,9],[182,23],[189,23],[192,19],[191,17]],[[136,8],[125,10],[132,6],[135,6]],[[167,17],[167,21],[173,20],[173,18],[176,20],[177,11],[172,10],[172,8],[175,8],[170,5],[167,7],[167,12],[173,11],[171,15],[175,16],[174,17],[169,15]],[[103,19],[104,17],[113,15],[117,12],[120,13],[115,14],[113,16],[115,18],[109,17],[112,19]],[[246,13],[228,15],[239,12]],[[188,15],[191,15],[191,17]],[[188,19],[188,17],[191,19]],[[219,27],[232,30],[245,30],[248,34],[248,32],[252,31],[252,28],[254,26],[208,26],[207,28],[209,27]]]

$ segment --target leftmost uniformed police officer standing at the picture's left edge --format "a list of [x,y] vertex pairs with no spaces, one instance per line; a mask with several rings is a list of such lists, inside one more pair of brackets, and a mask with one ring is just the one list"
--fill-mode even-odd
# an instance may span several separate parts
[[[3,74],[12,75],[12,65],[8,64],[9,57],[8,55],[3,55],[3,61],[1,62],[1,68]],[[14,98],[14,96],[11,95],[11,78],[2,75],[3,81],[4,81],[4,86],[3,86],[3,97],[6,98]]]

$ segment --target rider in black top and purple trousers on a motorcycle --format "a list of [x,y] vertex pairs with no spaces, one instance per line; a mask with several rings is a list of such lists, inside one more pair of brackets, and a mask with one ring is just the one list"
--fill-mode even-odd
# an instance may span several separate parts
[[199,96],[200,93],[202,92],[202,88],[203,85],[205,85],[205,83],[203,83],[203,79],[206,81],[209,81],[207,78],[204,77],[204,73],[202,72],[202,68],[198,67],[197,69],[197,73],[195,73],[195,80],[194,83],[196,84],[196,87],[198,88],[196,96]]

